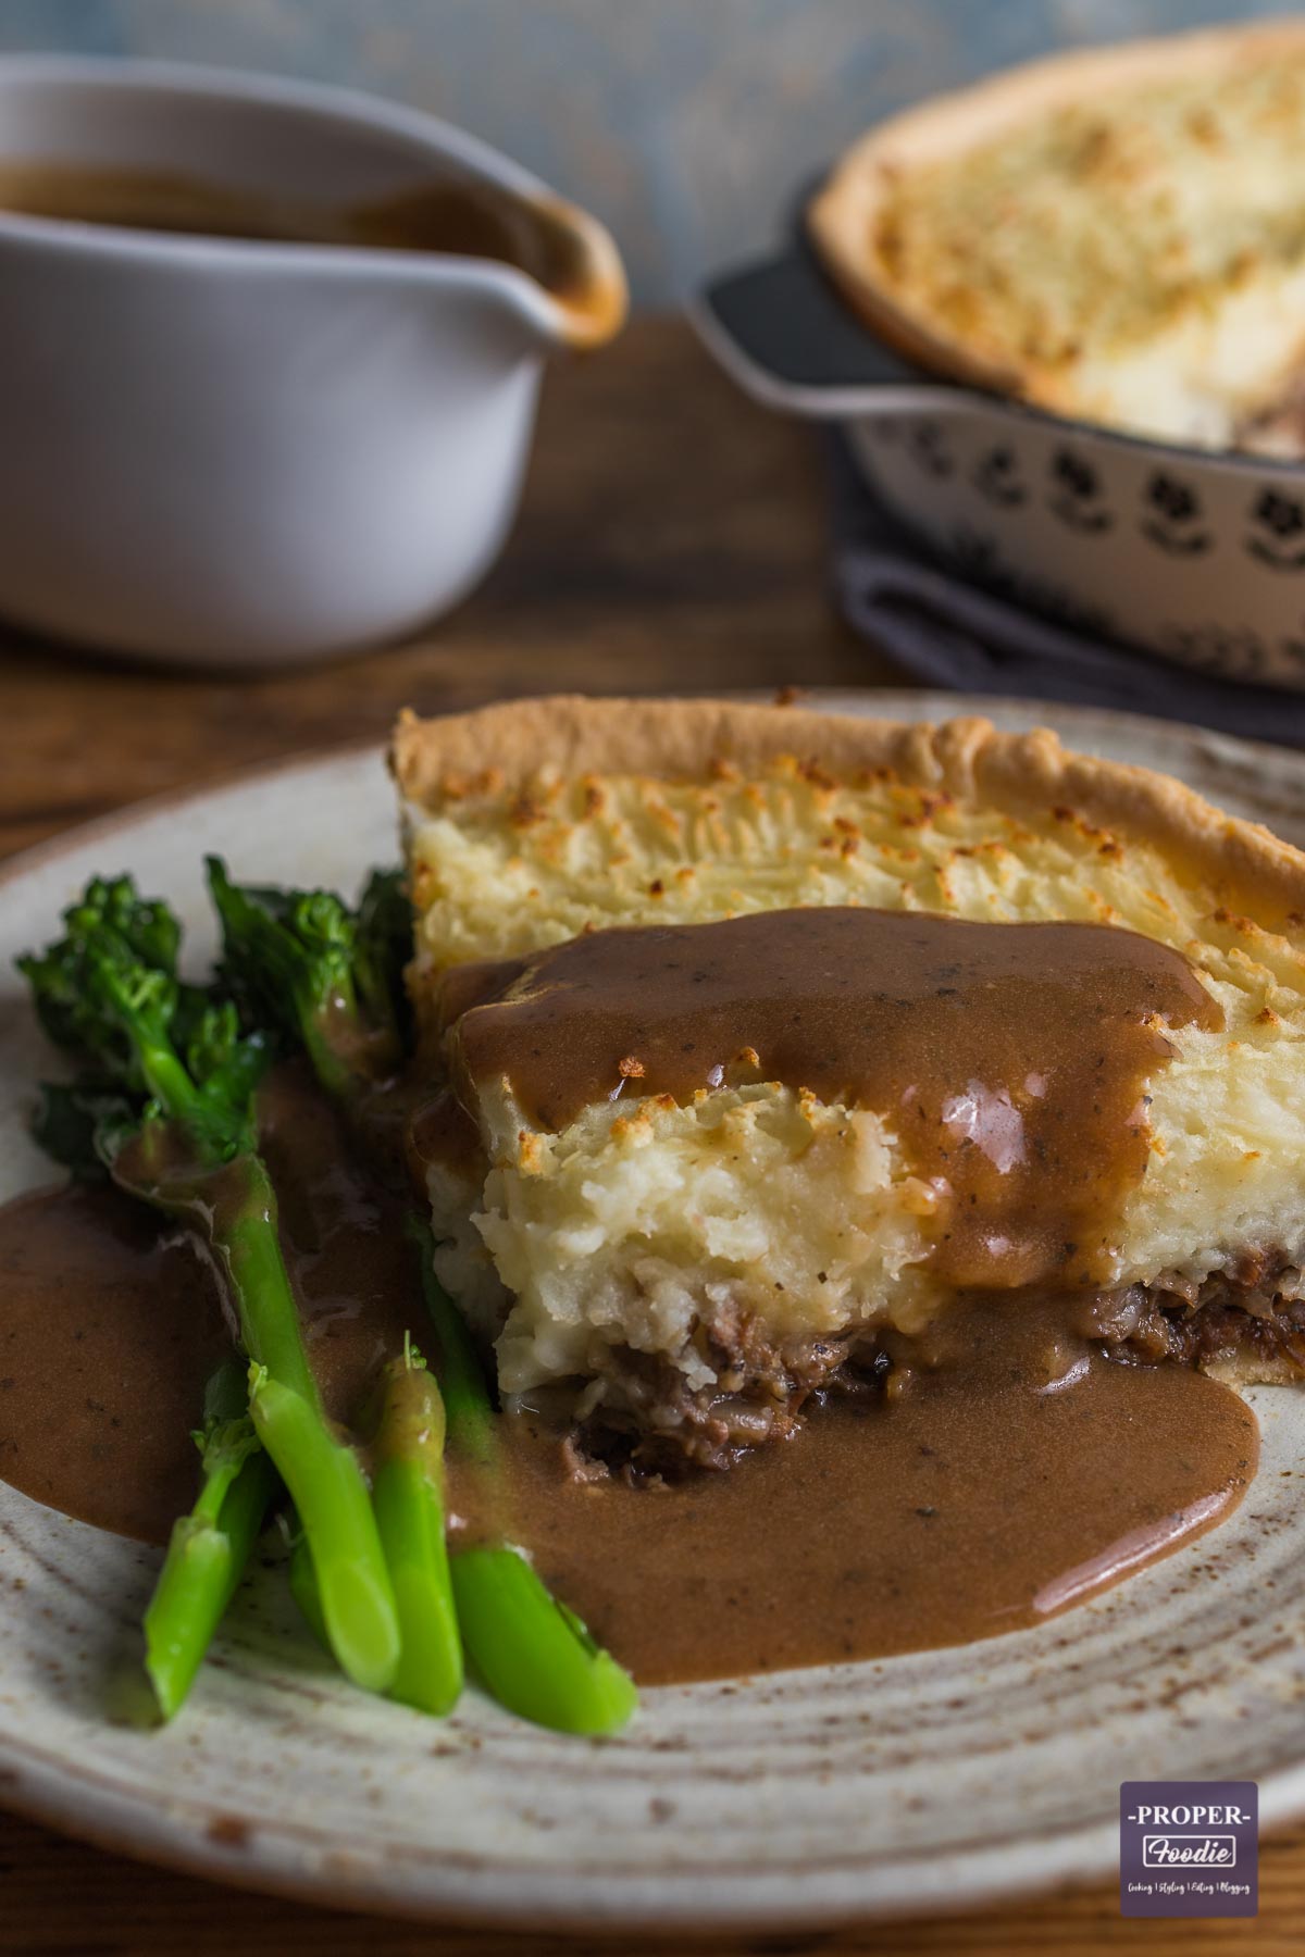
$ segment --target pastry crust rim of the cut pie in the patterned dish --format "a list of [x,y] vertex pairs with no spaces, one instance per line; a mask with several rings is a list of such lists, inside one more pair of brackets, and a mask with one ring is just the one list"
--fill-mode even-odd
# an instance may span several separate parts
[[875,223],[894,182],[916,164],[955,157],[1043,110],[1092,100],[1152,76],[1174,80],[1178,74],[1225,68],[1240,55],[1299,49],[1301,43],[1305,16],[1287,16],[1074,49],[933,96],[878,123],[833,166],[806,213],[816,250],[849,305],[898,352],[951,380],[1023,393],[1049,407],[1072,407],[1047,368],[1012,360],[1004,348],[967,344],[896,297],[892,276],[873,250]]

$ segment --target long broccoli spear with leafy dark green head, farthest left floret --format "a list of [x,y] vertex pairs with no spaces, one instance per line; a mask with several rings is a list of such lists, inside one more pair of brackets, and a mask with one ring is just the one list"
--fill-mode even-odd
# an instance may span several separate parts
[[129,877],[96,879],[65,935],[20,969],[51,1037],[115,1090],[96,1119],[113,1180],[211,1247],[254,1362],[250,1419],[303,1515],[333,1650],[348,1677],[383,1691],[399,1663],[393,1589],[358,1456],[321,1409],[256,1153],[272,1041],[241,1033],[233,998],[178,980],[178,943],[172,914]]

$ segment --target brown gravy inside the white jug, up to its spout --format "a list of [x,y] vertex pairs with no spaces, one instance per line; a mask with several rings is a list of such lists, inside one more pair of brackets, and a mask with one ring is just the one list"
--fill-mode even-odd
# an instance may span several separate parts
[[[0,209],[117,231],[495,258],[567,303],[593,284],[575,227],[493,184],[427,184],[366,204],[272,198],[166,170],[0,160]],[[589,296],[599,307],[610,296]]]

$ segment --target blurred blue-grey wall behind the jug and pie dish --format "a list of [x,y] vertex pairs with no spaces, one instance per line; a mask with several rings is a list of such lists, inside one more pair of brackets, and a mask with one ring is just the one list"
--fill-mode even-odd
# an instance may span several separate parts
[[0,0],[0,49],[350,82],[589,204],[642,303],[763,245],[878,115],[1055,47],[1291,12],[1235,0]]

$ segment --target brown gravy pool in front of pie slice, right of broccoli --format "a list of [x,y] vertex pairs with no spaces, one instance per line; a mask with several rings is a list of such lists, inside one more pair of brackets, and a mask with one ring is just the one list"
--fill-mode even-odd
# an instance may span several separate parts
[[[1223,1521],[1254,1476],[1233,1391],[1070,1348],[1047,1305],[967,1309],[949,1346],[900,1395],[830,1401],[728,1474],[667,1487],[562,1481],[556,1438],[518,1415],[520,1536],[661,1685],[1037,1624]],[[466,1470],[450,1481],[456,1507]],[[472,1532],[475,1501],[472,1483]]]

